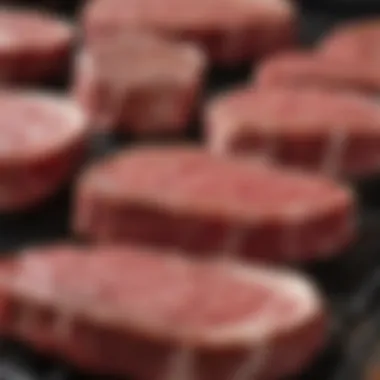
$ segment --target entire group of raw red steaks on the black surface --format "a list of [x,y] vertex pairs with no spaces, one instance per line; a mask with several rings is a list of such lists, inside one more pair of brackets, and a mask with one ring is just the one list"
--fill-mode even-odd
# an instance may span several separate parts
[[[380,172],[380,21],[305,51],[297,15],[289,0],[90,0],[77,25],[0,9],[0,211],[70,183],[82,239],[0,260],[0,335],[136,380],[274,380],[317,357],[324,295],[281,267],[358,235],[342,177]],[[209,70],[258,62],[209,96]],[[64,77],[63,94],[44,87]],[[120,132],[150,144],[88,163],[93,137]]]

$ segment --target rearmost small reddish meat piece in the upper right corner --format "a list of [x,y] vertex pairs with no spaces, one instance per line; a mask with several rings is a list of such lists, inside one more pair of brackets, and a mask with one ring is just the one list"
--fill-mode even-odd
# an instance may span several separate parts
[[378,70],[380,64],[380,18],[336,27],[322,39],[319,53],[356,64],[358,69]]

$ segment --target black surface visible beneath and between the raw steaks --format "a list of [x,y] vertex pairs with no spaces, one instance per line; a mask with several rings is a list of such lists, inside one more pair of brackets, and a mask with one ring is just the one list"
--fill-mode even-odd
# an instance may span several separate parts
[[[350,19],[353,14],[362,17],[365,7],[356,0],[352,7],[333,7],[335,12],[326,13],[338,2],[350,0],[300,1],[300,41],[312,46],[320,36],[337,23]],[[15,1],[9,2],[14,4]],[[35,4],[73,16],[78,5],[75,0],[29,0],[18,3]],[[317,4],[318,3],[318,4]],[[351,3],[354,3],[352,0]],[[319,6],[317,6],[319,5]],[[351,4],[353,6],[353,4]],[[376,7],[375,7],[376,8]],[[208,93],[244,81],[249,68],[233,71],[213,70],[209,78]],[[199,139],[199,126],[195,123],[189,139]],[[98,137],[93,140],[89,160],[97,160],[122,146],[133,143],[119,138]],[[380,340],[380,180],[354,184],[360,195],[360,238],[339,258],[300,268],[307,271],[321,286],[333,312],[331,339],[328,347],[298,380],[359,380],[363,366]],[[69,210],[71,187],[28,214],[0,217],[0,253],[11,254],[32,244],[53,242],[70,237]],[[377,306],[379,305],[379,306]],[[379,309],[379,310],[378,310]],[[363,327],[364,326],[364,327]],[[369,327],[368,327],[369,326]],[[0,380],[85,380],[94,379],[69,368],[53,358],[43,358],[14,342],[0,342]],[[100,378],[99,378],[100,379]],[[105,378],[102,378],[105,380]],[[293,379],[296,380],[296,379]]]

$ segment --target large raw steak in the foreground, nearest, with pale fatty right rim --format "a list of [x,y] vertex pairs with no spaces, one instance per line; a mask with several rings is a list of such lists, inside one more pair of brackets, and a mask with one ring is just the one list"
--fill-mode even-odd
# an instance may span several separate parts
[[2,335],[141,380],[275,379],[326,338],[299,274],[129,245],[29,249],[1,264],[0,294]]

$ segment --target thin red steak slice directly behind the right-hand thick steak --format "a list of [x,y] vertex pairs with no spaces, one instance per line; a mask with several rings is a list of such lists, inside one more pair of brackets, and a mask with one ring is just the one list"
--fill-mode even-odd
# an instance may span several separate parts
[[275,55],[255,68],[257,87],[319,87],[357,91],[375,95],[380,92],[377,65],[343,58],[329,58],[311,51]]

